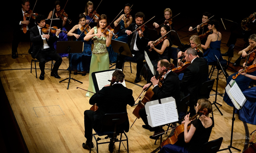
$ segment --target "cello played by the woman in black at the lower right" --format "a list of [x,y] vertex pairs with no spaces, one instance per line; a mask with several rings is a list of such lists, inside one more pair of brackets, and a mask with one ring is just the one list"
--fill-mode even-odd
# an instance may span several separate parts
[[[196,115],[194,115],[192,118],[190,118],[190,120],[194,120],[196,118],[196,116],[198,115],[205,115],[208,113],[207,108],[204,108],[202,111],[197,112]],[[190,129],[191,124],[188,125],[188,130]],[[180,124],[179,126],[177,126],[175,128],[174,131],[174,135],[172,135],[171,137],[168,137],[166,140],[164,140],[161,143],[161,147],[163,147],[164,145],[168,145],[168,144],[175,144],[179,139],[183,139],[184,138],[184,124]]]

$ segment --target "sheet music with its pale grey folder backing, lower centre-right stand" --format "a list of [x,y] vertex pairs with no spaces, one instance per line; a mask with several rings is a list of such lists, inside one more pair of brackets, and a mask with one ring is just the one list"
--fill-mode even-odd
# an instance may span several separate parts
[[148,124],[162,126],[178,121],[178,111],[173,97],[147,102],[145,105]]

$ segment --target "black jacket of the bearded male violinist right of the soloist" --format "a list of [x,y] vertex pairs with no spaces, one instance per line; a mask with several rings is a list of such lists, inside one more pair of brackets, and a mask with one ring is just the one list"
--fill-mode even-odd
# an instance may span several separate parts
[[[125,34],[126,30],[134,31],[135,27],[136,27],[136,23],[132,23],[132,24],[130,24],[130,26],[122,29],[121,33]],[[144,54],[145,47],[148,45],[148,41],[149,41],[148,40],[148,36],[149,36],[148,27],[145,25],[144,28],[145,28],[145,30],[143,31],[144,37],[140,38],[140,36],[137,34],[137,38],[136,38],[136,45],[137,45],[139,51],[143,52],[143,54]],[[128,36],[128,42],[127,43],[129,45],[129,47],[130,47],[131,42],[132,42],[133,34],[134,33],[132,33],[131,35]]]

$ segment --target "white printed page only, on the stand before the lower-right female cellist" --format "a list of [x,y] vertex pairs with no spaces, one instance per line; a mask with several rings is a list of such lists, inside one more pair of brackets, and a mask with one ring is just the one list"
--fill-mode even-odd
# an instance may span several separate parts
[[152,126],[161,126],[178,121],[175,102],[166,102],[164,104],[156,104],[149,106]]

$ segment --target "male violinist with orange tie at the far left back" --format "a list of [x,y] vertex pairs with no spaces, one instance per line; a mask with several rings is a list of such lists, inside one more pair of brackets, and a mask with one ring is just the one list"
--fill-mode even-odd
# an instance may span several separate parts
[[[25,12],[30,10],[29,0],[22,0],[22,9],[19,12],[18,18],[14,18],[14,31],[13,31],[13,40],[12,40],[12,58],[16,59],[18,57],[17,48],[22,40],[30,40],[30,28],[36,26],[34,19],[26,18],[24,15]],[[22,14],[21,14],[22,13]]]

